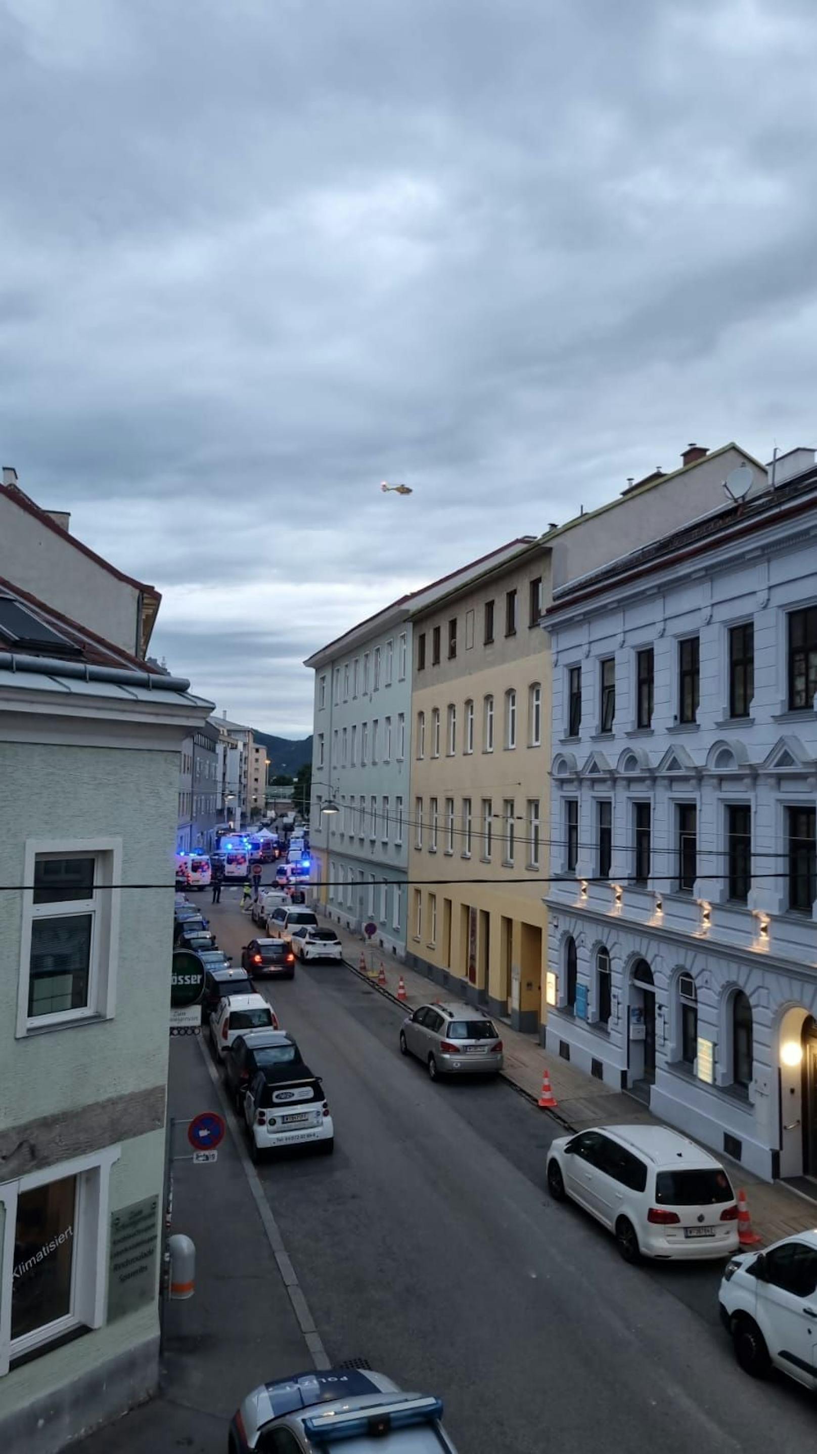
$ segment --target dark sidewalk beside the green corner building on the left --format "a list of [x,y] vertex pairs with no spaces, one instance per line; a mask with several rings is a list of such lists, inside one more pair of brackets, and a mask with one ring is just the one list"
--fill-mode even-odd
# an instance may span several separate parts
[[[224,1106],[196,1040],[170,1043],[170,1114],[186,1121]],[[186,1127],[174,1149],[186,1156]],[[196,1291],[169,1303],[161,1390],[71,1445],[81,1454],[224,1454],[230,1419],[259,1383],[313,1367],[257,1205],[227,1130],[218,1162],[173,1166],[173,1226],[196,1246]]]

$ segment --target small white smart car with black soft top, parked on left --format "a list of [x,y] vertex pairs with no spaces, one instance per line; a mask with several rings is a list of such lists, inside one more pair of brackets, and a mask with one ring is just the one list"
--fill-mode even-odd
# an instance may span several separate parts
[[308,1066],[265,1066],[244,1092],[244,1122],[250,1156],[285,1146],[315,1144],[334,1150],[334,1127],[323,1085]]

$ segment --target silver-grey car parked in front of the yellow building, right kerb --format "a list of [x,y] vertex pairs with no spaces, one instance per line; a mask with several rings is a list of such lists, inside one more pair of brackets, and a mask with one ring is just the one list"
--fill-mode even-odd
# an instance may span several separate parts
[[499,1075],[502,1040],[493,1019],[455,1000],[420,1005],[400,1031],[400,1051],[417,1056],[432,1080],[442,1075]]

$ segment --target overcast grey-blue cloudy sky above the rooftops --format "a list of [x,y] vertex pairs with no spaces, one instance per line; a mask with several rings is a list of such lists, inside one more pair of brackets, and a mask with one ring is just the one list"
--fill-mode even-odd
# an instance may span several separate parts
[[0,64],[1,459],[233,718],[692,439],[817,442],[814,0],[0,0]]

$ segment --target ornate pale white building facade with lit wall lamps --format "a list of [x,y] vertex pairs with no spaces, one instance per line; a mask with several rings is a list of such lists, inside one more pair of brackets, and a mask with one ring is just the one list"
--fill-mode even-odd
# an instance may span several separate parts
[[547,1047],[766,1178],[817,1176],[813,459],[545,616]]

